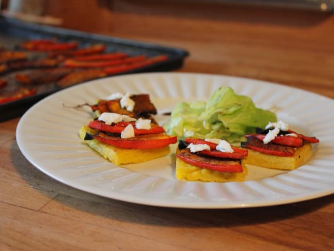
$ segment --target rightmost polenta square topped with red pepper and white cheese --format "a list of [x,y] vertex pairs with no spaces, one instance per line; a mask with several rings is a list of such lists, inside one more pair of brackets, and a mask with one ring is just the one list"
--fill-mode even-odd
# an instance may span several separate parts
[[246,135],[242,147],[248,149],[244,164],[293,170],[304,165],[310,157],[311,144],[318,143],[316,137],[308,137],[289,129],[283,121],[268,123],[255,134]]

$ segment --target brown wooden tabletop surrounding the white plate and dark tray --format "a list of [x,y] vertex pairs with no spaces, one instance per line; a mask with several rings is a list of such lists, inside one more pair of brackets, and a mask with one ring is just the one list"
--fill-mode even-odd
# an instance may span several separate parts
[[[112,17],[108,26],[75,27],[66,13],[64,26],[189,50],[177,71],[267,80],[334,98],[334,15],[187,1],[172,1],[172,8],[170,3],[115,1],[110,16],[105,10],[99,15],[101,6],[95,6],[101,19]],[[334,248],[333,194],[281,206],[220,210],[106,199],[34,168],[18,149],[18,120],[0,123],[1,250]]]

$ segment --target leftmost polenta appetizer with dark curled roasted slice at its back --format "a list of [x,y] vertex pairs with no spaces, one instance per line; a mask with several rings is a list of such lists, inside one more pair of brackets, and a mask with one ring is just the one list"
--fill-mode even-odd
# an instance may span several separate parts
[[115,165],[164,156],[177,141],[154,120],[157,111],[149,95],[117,93],[91,108],[98,117],[80,129],[80,138]]

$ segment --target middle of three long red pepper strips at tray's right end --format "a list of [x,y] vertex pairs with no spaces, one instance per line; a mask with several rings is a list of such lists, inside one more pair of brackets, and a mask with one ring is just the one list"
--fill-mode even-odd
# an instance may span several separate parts
[[146,56],[141,55],[132,58],[120,59],[120,60],[108,60],[108,61],[75,61],[67,59],[64,62],[65,67],[73,68],[91,68],[91,67],[106,67],[111,65],[130,64],[146,59]]

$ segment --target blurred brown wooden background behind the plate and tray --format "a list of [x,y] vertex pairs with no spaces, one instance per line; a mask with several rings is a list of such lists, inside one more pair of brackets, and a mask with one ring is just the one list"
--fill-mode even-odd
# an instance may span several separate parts
[[181,47],[190,52],[183,71],[323,94],[334,80],[333,6],[310,0],[6,0],[2,15]]

